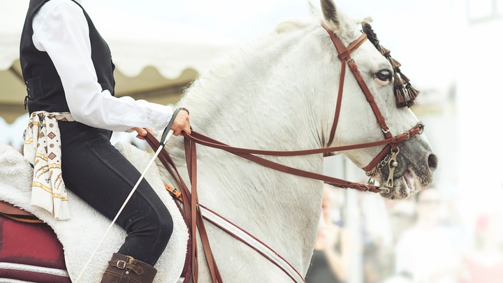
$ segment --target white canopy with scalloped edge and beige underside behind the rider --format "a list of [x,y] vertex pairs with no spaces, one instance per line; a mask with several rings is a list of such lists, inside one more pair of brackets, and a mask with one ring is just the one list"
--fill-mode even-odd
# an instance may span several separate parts
[[[9,123],[26,112],[18,57],[28,3],[0,0],[0,116]],[[234,46],[212,31],[189,29],[86,2],[83,6],[112,50],[117,96],[174,103],[183,87]]]

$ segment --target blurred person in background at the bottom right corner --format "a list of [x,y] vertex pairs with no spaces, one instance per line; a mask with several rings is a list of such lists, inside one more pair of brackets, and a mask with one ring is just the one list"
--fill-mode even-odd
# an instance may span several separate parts
[[463,256],[462,283],[503,282],[503,218],[483,214],[474,231],[474,247]]

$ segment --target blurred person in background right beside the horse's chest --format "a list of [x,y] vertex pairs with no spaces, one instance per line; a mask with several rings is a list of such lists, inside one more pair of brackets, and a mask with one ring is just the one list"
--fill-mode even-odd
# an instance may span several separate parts
[[323,187],[322,215],[314,253],[307,270],[307,283],[347,282],[351,237],[349,232],[335,224],[333,215],[337,208],[334,188]]

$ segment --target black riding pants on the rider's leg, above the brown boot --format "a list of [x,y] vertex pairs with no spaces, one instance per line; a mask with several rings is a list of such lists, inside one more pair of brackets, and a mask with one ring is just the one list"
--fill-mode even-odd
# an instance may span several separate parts
[[[111,131],[78,122],[59,122],[59,129],[66,188],[113,219],[140,172],[110,144]],[[152,266],[173,233],[170,212],[146,180],[140,182],[117,224],[127,233],[117,252]]]

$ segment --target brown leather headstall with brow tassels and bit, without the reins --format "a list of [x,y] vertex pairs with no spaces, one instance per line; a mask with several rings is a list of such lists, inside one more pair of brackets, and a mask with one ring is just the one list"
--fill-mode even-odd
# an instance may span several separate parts
[[[332,130],[330,131],[330,139],[328,140],[328,145],[330,145],[333,142],[333,138],[335,136],[335,129],[337,129],[337,122],[339,121],[339,115],[340,115],[340,108],[341,108],[341,101],[342,101],[342,93],[344,91],[344,74],[346,73],[346,65],[349,66],[351,69],[351,72],[353,73],[354,77],[356,78],[356,81],[358,82],[358,85],[360,85],[360,89],[362,90],[363,94],[365,94],[365,98],[367,99],[368,103],[370,104],[370,107],[372,108],[372,111],[374,112],[375,117],[377,118],[377,123],[379,123],[379,126],[381,126],[381,131],[384,134],[384,139],[386,140],[393,140],[399,138],[399,136],[394,136],[391,134],[390,129],[388,125],[386,124],[386,119],[384,116],[381,114],[381,111],[379,110],[379,107],[377,106],[377,103],[374,100],[374,96],[370,92],[369,88],[367,87],[367,84],[365,84],[365,80],[363,80],[363,77],[360,74],[360,71],[358,71],[358,66],[356,66],[355,61],[351,58],[351,52],[356,50],[360,45],[362,45],[365,40],[367,40],[367,34],[363,33],[360,37],[356,38],[356,41],[353,41],[351,44],[349,44],[347,47],[344,46],[342,41],[340,40],[337,35],[328,29],[326,27],[326,24],[323,22],[321,23],[324,29],[328,32],[330,35],[330,38],[332,39],[333,44],[335,45],[335,49],[337,49],[338,57],[342,61],[341,64],[341,71],[340,71],[340,79],[339,79],[339,92],[337,95],[337,106],[335,107],[335,116],[333,120],[333,126]],[[367,29],[370,29],[370,26],[367,24]],[[370,29],[372,30],[372,29]],[[374,41],[377,41],[377,38],[375,38],[375,34],[372,34],[372,38]],[[374,42],[372,42],[374,43]],[[377,44],[379,42],[377,41]],[[376,45],[376,43],[374,43]],[[379,45],[380,47],[380,45]],[[387,58],[391,59],[389,57],[389,51],[387,51]],[[381,52],[382,53],[382,52]],[[395,64],[393,64],[395,66]],[[394,70],[395,73],[397,72],[398,67]],[[398,70],[398,72],[400,72]],[[402,78],[398,77],[395,75],[395,80],[400,80],[399,84],[395,83],[395,88],[398,86],[402,86]],[[407,81],[407,84],[409,82]],[[415,96],[414,96],[415,98]],[[414,99],[413,98],[413,99]],[[413,100],[411,99],[411,101]],[[412,103],[410,101],[410,103]],[[412,136],[415,136],[416,134],[423,133],[423,124],[417,124],[416,126],[412,127],[409,131],[407,131],[407,138],[411,138]],[[393,187],[393,179],[400,177],[405,170],[400,170],[400,172],[395,172],[395,169],[398,168],[399,164],[399,158],[398,154],[400,153],[400,148],[398,147],[398,143],[401,143],[401,141],[404,140],[400,138],[400,141],[397,143],[388,143],[386,147],[384,147],[383,150],[379,154],[377,154],[372,161],[370,161],[370,164],[365,166],[363,170],[365,170],[365,173],[373,177],[379,173],[381,169],[383,169],[386,165],[388,166],[388,180],[386,181],[386,184],[384,184],[384,188],[381,188],[381,191],[383,192],[389,192],[389,189]],[[405,162],[404,159],[400,159],[402,162]],[[406,168],[407,164],[404,165],[405,167],[402,166],[402,168]],[[396,174],[395,174],[396,173]]]

